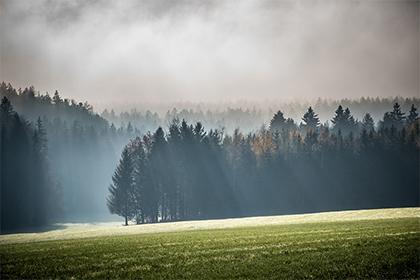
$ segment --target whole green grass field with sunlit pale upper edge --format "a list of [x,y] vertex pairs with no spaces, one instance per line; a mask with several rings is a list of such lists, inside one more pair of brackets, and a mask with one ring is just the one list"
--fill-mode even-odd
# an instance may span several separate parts
[[87,225],[3,235],[1,279],[419,279],[419,214],[406,208],[97,225],[83,238],[75,232]]

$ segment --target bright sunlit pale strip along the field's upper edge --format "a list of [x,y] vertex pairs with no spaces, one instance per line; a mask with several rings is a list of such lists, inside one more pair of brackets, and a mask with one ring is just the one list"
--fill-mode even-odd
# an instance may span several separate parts
[[58,229],[41,233],[22,233],[0,235],[0,244],[16,242],[32,242],[46,240],[63,240],[85,237],[118,236],[144,233],[160,233],[174,231],[227,229],[237,227],[253,227],[266,225],[288,225],[320,222],[345,222],[358,220],[378,220],[396,218],[420,218],[420,207],[389,208],[355,211],[336,211],[314,214],[262,216],[249,218],[219,219],[171,222],[145,225],[123,226],[122,223],[95,224],[57,224]]

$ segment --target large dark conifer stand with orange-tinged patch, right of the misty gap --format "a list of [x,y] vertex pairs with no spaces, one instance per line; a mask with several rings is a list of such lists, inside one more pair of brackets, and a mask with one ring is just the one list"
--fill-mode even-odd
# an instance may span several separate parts
[[339,106],[309,107],[232,135],[174,119],[131,140],[109,187],[111,213],[137,223],[419,205],[420,121],[395,103],[375,127]]

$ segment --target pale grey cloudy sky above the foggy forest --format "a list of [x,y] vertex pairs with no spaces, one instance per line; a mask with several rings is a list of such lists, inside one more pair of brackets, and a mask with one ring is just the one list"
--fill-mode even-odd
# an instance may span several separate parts
[[0,0],[0,80],[103,106],[420,95],[419,1]]

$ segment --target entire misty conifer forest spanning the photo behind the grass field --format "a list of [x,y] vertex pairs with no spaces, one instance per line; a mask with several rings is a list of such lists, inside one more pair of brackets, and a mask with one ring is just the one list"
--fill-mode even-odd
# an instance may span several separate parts
[[117,127],[86,102],[4,82],[0,97],[2,232],[110,213],[128,224],[419,205],[416,98],[354,101],[360,120],[346,105],[329,121],[278,110],[230,131],[177,114],[160,126],[151,112],[155,123]]

